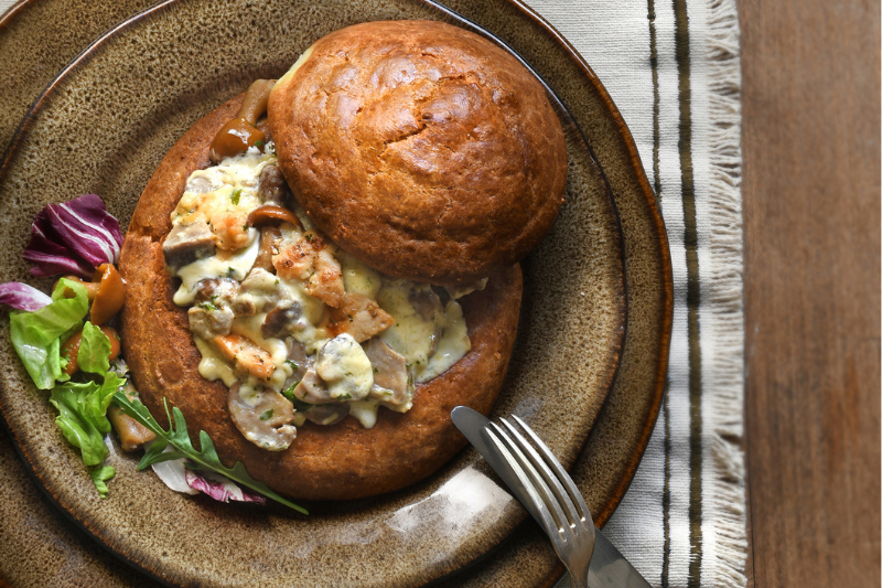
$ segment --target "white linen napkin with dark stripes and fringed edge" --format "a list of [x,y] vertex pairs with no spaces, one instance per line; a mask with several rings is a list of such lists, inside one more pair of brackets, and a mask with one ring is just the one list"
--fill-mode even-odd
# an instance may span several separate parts
[[735,1],[527,3],[576,46],[619,106],[670,239],[667,396],[634,482],[604,532],[653,586],[744,586]]

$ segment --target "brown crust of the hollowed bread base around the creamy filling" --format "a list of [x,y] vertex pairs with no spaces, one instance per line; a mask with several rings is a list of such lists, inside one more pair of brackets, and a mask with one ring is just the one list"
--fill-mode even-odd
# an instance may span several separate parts
[[162,398],[178,406],[190,431],[205,430],[227,466],[248,472],[291,498],[355,499],[417,482],[453,457],[465,439],[450,410],[466,405],[488,414],[502,386],[514,345],[521,295],[518,266],[493,272],[487,288],[461,300],[472,341],[470,351],[441,376],[417,386],[413,408],[379,410],[373,429],[354,418],[330,427],[308,423],[282,452],[257,448],[236,429],[227,388],[198,374],[186,310],[172,301],[176,284],[165,270],[162,240],[186,178],[207,167],[208,145],[235,116],[240,97],[212,111],[165,156],[144,189],[126,235],[119,268],[128,282],[122,345],[144,404],[165,424]]

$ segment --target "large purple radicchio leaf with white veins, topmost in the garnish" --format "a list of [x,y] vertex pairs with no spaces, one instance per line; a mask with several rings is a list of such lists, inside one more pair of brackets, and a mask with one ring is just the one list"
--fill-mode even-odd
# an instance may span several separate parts
[[117,261],[121,244],[119,222],[99,196],[85,194],[40,211],[22,257],[34,264],[31,274],[37,277],[90,278],[99,265]]

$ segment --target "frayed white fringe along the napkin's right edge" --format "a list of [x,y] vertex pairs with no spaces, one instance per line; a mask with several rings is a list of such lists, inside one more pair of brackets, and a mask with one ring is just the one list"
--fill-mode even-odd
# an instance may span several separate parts
[[[710,263],[702,292],[713,309],[714,357],[706,365],[702,420],[713,463],[702,492],[717,564],[702,586],[742,588],[747,557],[744,455],[744,313],[741,220],[741,58],[735,0],[708,0]],[[707,447],[707,446],[706,446]],[[703,516],[702,516],[703,517]],[[708,537],[710,538],[710,537]]]

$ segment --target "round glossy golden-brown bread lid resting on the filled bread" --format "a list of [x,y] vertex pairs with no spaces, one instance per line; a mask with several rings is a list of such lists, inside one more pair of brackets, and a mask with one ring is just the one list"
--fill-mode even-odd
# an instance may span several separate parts
[[434,21],[335,31],[272,92],[269,126],[300,204],[380,271],[466,284],[517,263],[563,202],[567,148],[512,55]]

